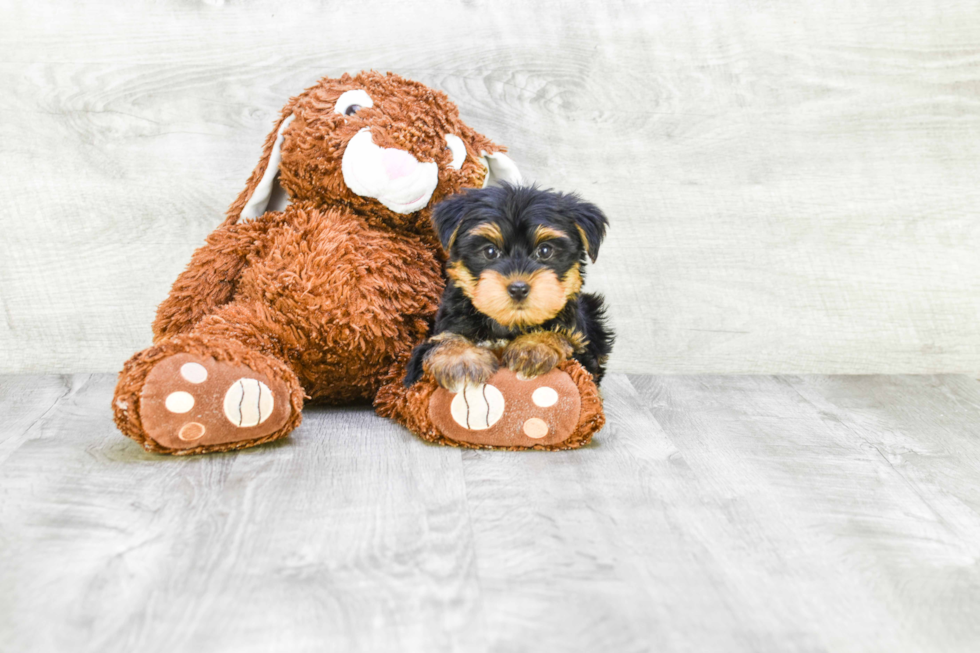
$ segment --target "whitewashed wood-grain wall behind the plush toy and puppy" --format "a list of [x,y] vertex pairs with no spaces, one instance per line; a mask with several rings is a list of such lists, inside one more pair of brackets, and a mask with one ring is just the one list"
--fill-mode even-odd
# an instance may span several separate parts
[[0,372],[149,344],[285,100],[366,68],[608,212],[616,370],[980,370],[980,2],[0,0]]

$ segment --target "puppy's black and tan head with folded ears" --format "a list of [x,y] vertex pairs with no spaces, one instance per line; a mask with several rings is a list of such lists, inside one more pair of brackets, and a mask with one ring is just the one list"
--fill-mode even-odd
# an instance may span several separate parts
[[607,224],[575,195],[509,185],[451,198],[433,220],[451,283],[509,329],[543,324],[578,295]]

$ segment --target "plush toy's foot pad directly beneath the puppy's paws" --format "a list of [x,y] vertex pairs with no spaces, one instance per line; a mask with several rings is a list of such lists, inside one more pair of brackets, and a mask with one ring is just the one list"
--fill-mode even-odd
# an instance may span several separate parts
[[579,389],[567,373],[554,369],[522,379],[503,368],[484,385],[469,385],[457,393],[436,389],[429,417],[450,440],[525,449],[567,440],[581,409]]

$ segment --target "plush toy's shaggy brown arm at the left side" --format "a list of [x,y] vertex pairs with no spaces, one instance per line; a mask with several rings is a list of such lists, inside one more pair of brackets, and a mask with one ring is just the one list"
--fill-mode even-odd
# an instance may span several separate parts
[[234,297],[238,277],[269,229],[267,220],[224,225],[191,257],[157,309],[154,342],[183,333]]

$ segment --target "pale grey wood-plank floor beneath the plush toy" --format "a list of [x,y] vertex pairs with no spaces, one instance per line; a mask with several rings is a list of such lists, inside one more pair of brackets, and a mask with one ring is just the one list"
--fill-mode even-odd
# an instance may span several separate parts
[[612,375],[588,449],[313,408],[143,452],[0,377],[3,651],[977,651],[980,383]]

